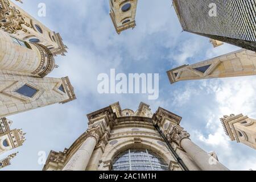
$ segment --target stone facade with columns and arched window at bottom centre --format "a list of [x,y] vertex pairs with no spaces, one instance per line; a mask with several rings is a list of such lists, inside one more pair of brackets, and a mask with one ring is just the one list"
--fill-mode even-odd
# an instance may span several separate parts
[[87,117],[88,130],[63,152],[51,151],[43,170],[228,170],[161,107],[152,114],[147,104],[133,111],[117,102]]

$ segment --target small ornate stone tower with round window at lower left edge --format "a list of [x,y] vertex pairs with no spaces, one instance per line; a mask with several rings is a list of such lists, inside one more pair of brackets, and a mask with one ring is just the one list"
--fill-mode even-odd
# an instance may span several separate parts
[[22,146],[25,141],[24,135],[26,133],[17,129],[10,130],[11,123],[13,122],[9,119],[0,119],[0,155],[13,148]]

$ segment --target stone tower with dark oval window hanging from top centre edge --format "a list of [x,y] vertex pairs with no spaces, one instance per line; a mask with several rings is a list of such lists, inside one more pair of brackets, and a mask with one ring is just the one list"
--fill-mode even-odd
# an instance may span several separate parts
[[138,0],[109,0],[110,17],[117,34],[128,28],[136,26],[135,16]]

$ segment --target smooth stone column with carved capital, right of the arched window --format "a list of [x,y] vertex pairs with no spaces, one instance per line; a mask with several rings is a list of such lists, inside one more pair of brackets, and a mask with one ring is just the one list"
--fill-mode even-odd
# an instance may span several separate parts
[[228,171],[220,162],[207,154],[189,139],[190,135],[180,127],[172,126],[167,138],[170,142],[176,142],[195,161],[203,171]]

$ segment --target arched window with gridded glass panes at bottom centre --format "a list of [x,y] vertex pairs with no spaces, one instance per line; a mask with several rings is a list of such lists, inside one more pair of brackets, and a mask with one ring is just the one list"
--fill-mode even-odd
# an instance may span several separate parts
[[113,171],[170,171],[168,164],[147,149],[129,149],[115,156]]

